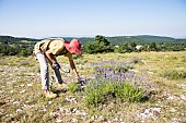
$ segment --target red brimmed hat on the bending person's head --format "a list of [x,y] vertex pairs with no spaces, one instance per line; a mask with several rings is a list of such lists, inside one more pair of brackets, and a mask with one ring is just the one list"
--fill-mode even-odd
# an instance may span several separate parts
[[81,42],[78,39],[72,39],[70,42],[65,41],[65,47],[70,53],[82,54]]

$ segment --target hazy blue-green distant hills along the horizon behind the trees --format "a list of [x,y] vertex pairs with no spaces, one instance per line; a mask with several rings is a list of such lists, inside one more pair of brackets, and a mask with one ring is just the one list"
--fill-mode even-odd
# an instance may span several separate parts
[[[67,40],[71,40],[72,37],[63,37]],[[162,37],[162,36],[151,36],[151,35],[140,35],[140,36],[116,36],[116,37],[105,37],[109,42],[114,45],[121,45],[127,42],[136,42],[136,44],[151,44],[151,42],[185,42],[186,39],[175,39],[172,37]],[[82,44],[86,41],[93,41],[94,37],[81,37],[79,38]],[[0,42],[21,42],[23,40],[36,42],[42,39],[34,39],[34,38],[20,38],[20,37],[12,37],[12,36],[0,36]]]

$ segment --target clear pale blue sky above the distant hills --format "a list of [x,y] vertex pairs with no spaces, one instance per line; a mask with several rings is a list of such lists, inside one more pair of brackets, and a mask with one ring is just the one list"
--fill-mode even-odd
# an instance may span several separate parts
[[186,37],[186,0],[0,0],[0,35]]

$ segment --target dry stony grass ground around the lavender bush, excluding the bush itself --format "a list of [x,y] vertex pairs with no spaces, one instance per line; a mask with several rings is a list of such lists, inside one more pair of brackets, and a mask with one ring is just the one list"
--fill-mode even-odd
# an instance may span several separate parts
[[[68,59],[57,58],[68,69]],[[135,61],[132,61],[135,60]],[[105,61],[133,62],[129,71],[148,75],[149,99],[143,102],[109,100],[86,107],[84,94],[63,91],[53,79],[56,99],[46,99],[40,89],[39,66],[33,57],[0,59],[0,122],[2,123],[184,123],[186,122],[186,51],[83,54],[74,57],[80,75],[94,78],[94,65]],[[106,62],[105,62],[106,63]],[[71,72],[65,82],[75,83]],[[146,76],[147,77],[147,76]]]

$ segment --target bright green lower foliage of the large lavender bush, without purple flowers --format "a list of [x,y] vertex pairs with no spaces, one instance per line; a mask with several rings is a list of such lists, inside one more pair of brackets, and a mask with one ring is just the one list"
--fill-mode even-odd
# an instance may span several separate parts
[[88,84],[84,90],[84,103],[90,107],[97,107],[112,99],[127,102],[143,101],[144,94],[131,83],[108,82],[106,79],[93,81]]

